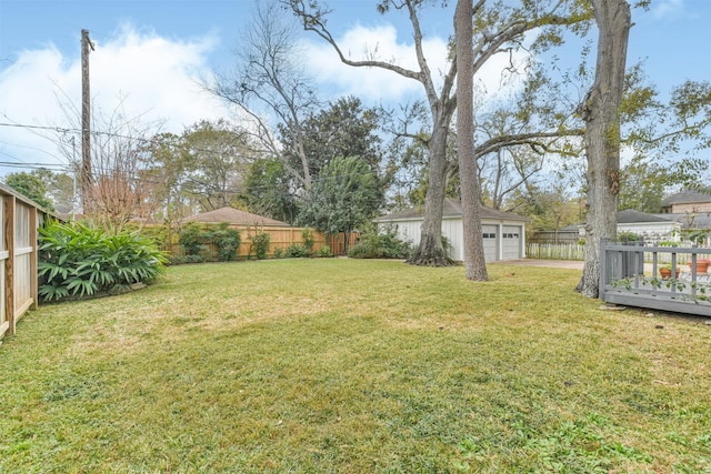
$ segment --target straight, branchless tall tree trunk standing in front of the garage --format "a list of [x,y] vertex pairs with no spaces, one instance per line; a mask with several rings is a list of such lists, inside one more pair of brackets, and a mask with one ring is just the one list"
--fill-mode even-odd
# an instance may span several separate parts
[[457,154],[461,180],[462,225],[467,279],[485,281],[487,263],[481,236],[481,204],[474,154],[472,3],[459,0],[454,12],[457,52]]

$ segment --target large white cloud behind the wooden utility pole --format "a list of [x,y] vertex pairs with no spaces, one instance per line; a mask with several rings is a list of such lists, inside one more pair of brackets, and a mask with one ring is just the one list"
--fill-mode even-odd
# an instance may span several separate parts
[[[122,27],[90,53],[94,113],[110,114],[122,102],[127,117],[162,122],[162,131],[176,133],[198,120],[228,115],[227,109],[198,84],[209,74],[207,56],[216,43],[213,36],[173,41]],[[22,51],[0,71],[0,90],[1,122],[68,127],[58,97],[80,110],[80,58],[68,58],[53,46]],[[0,127],[0,161],[16,160],[60,162],[57,145],[47,138]]]

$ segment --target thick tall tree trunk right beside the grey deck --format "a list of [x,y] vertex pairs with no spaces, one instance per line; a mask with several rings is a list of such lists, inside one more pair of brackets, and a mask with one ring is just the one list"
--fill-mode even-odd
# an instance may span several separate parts
[[600,293],[600,239],[617,235],[620,186],[619,107],[631,27],[625,0],[591,0],[598,23],[595,80],[580,112],[585,121],[588,158],[588,222],[585,263],[577,291],[588,297]]

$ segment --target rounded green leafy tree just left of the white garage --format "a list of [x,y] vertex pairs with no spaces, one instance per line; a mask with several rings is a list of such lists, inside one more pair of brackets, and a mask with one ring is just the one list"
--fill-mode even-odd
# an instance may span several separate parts
[[378,178],[358,157],[337,158],[321,170],[313,182],[299,221],[337,234],[350,233],[367,223],[382,203]]

